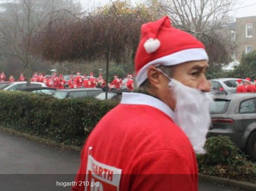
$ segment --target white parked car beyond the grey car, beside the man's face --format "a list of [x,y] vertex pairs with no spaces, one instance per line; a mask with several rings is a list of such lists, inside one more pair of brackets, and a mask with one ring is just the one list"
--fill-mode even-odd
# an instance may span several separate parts
[[[223,91],[228,94],[237,92],[237,79],[239,78],[218,78],[211,79],[213,91]],[[245,80],[242,80],[243,82]]]

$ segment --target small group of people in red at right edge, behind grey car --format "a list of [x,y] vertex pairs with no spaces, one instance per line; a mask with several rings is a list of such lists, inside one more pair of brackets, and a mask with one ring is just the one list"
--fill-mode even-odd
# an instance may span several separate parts
[[256,92],[256,80],[251,82],[251,78],[237,80],[237,93]]

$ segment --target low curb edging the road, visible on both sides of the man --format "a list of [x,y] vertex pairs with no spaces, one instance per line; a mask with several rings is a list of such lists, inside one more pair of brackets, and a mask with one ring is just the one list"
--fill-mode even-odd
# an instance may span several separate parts
[[[22,133],[20,131],[16,131],[16,130],[10,129],[10,128],[3,128],[2,126],[0,126],[0,130],[11,133],[11,134],[15,134],[15,135],[18,135],[18,136],[26,137],[26,138],[32,139],[34,141],[43,142],[43,143],[46,143],[46,144],[52,145],[52,146],[59,146],[59,147],[62,147],[62,148],[72,149],[72,150],[75,150],[75,151],[81,151],[82,150],[81,147],[71,146],[71,145],[64,145],[64,143],[58,143],[56,141],[51,141],[49,139],[36,137],[34,135],[30,135],[30,134],[27,134],[27,133]],[[209,176],[209,175],[199,174],[199,180],[216,182],[216,183],[221,184],[221,185],[238,187],[238,188],[248,190],[248,191],[255,191],[256,190],[256,184],[249,183],[249,182],[244,182],[244,181],[237,181],[237,180],[233,180],[233,179],[222,178],[222,177],[217,177],[217,176]]]

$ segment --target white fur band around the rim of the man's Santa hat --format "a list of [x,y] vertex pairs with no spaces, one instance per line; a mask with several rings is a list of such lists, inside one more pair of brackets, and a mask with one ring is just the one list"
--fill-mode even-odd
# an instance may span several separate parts
[[172,66],[177,65],[179,63],[189,62],[189,61],[199,61],[199,60],[207,60],[208,56],[207,53],[203,48],[192,48],[192,49],[185,49],[179,52],[175,52],[173,54],[158,58],[154,61],[148,62],[146,65],[139,70],[139,73],[136,76],[136,81],[138,86],[147,79],[147,68],[151,65],[155,66]]

